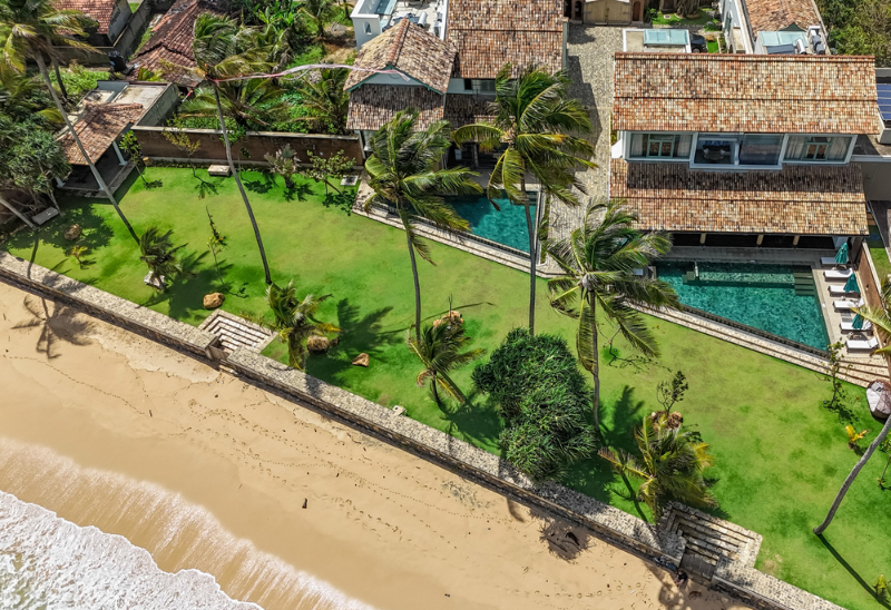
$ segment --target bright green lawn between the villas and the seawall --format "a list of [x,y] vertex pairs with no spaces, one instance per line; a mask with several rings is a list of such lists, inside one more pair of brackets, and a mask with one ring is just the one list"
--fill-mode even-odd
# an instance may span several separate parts
[[[150,168],[147,177],[164,186],[147,190],[131,180],[129,190],[119,193],[136,230],[150,225],[172,228],[177,243],[188,244],[184,252],[199,256],[210,233],[207,207],[229,243],[222,257],[226,281],[233,292],[244,291],[229,296],[224,308],[262,314],[262,268],[234,181],[209,179],[217,194],[199,199],[198,183],[188,169]],[[468,407],[446,414],[414,385],[418,364],[404,345],[413,298],[403,234],[334,205],[326,207],[320,185],[298,180],[287,200],[282,186],[270,185],[260,174],[245,173],[244,180],[274,279],[294,278],[301,293],[332,294],[321,317],[345,331],[332,353],[311,358],[309,372],[381,404],[401,404],[421,422],[498,452],[501,422],[484,401],[471,395]],[[21,232],[6,247],[192,324],[208,314],[202,296],[219,288],[209,255],[197,264],[196,277],[156,295],[143,284],[146,269],[136,245],[110,206],[75,200],[66,201],[66,208],[65,219],[52,220],[36,235]],[[70,243],[62,234],[71,223],[84,227],[81,244],[90,248],[92,264],[85,269],[65,254]],[[439,244],[432,245],[432,253],[435,267],[420,263],[428,319],[444,313],[451,296],[469,334],[489,351],[511,327],[525,324],[525,274]],[[537,329],[570,337],[571,322],[549,308],[545,288],[540,282]],[[821,406],[829,385],[812,372],[662,321],[652,324],[660,360],[636,361],[620,341],[620,360],[605,358],[609,444],[630,447],[631,427],[656,407],[656,384],[667,380],[669,371],[684,371],[689,391],[678,409],[685,425],[712,444],[717,513],[764,535],[758,568],[848,608],[879,608],[868,588],[880,572],[891,575],[891,544],[883,533],[891,530],[891,496],[875,482],[884,454],[877,454],[851,489],[828,530],[826,544],[811,533],[858,457],[846,446],[844,424],[869,429],[870,437],[881,427],[869,420],[863,392],[848,387],[851,414],[841,416]],[[604,344],[611,332],[607,326],[601,331]],[[369,368],[350,365],[360,352],[371,354]],[[283,351],[275,345],[270,354],[281,358]],[[468,391],[469,377],[470,370],[457,375]],[[617,493],[621,483],[599,460],[579,465],[566,482],[634,513],[633,504]]]

